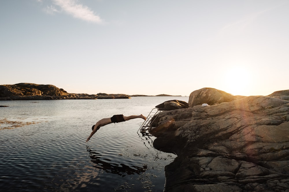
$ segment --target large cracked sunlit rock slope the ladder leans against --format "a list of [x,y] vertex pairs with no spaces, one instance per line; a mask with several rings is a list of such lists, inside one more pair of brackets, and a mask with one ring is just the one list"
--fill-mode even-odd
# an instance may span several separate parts
[[165,167],[164,190],[288,191],[288,93],[215,105],[195,97],[189,101],[211,106],[189,102],[193,107],[162,111],[151,130],[153,145],[178,155]]

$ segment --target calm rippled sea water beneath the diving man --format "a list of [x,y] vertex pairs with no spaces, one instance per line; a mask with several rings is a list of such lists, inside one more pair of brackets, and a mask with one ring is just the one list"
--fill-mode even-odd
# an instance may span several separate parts
[[[162,191],[176,155],[137,133],[142,119],[91,126],[115,114],[147,116],[156,105],[188,97],[0,101],[0,120],[35,124],[0,130],[1,191]],[[0,128],[7,126],[2,123]]]

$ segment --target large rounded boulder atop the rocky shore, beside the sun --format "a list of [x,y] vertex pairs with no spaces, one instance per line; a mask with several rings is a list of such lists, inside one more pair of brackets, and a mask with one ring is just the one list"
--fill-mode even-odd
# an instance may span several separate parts
[[207,103],[208,105],[219,104],[223,102],[230,102],[245,96],[234,96],[232,94],[226,93],[224,91],[214,89],[214,88],[202,88],[196,91],[193,91],[189,97],[189,107],[195,105],[201,105]]

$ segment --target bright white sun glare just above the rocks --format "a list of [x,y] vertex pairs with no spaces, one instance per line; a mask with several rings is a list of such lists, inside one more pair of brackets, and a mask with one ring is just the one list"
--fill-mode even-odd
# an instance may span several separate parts
[[223,91],[233,95],[249,96],[251,82],[252,75],[249,69],[242,66],[235,66],[228,69],[224,74]]

